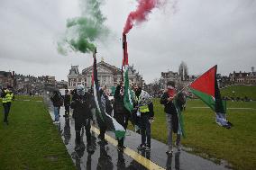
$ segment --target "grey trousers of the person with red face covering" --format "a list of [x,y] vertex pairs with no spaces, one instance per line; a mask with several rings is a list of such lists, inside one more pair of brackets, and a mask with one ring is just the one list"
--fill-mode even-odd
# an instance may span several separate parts
[[[166,113],[166,121],[167,121],[167,130],[168,130],[168,147],[169,150],[172,149],[172,115]],[[176,145],[179,146],[180,144],[180,134],[177,134],[177,139],[176,139]]]

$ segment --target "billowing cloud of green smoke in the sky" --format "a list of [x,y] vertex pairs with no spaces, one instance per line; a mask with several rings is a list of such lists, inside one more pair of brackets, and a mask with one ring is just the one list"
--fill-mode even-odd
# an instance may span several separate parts
[[100,11],[102,3],[103,0],[80,0],[81,16],[67,20],[65,36],[57,43],[60,54],[67,55],[67,45],[82,53],[94,51],[95,41],[108,35],[106,18]]

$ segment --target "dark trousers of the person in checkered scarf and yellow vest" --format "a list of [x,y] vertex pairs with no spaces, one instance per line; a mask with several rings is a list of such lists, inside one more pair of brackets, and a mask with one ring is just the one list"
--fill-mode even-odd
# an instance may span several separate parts
[[142,145],[145,145],[147,140],[147,145],[151,147],[151,123],[149,113],[142,113],[139,121],[139,126],[142,134]]

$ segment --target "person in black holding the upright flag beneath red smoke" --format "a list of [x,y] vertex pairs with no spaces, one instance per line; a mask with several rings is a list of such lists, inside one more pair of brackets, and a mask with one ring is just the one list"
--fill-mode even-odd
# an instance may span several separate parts
[[[124,107],[123,103],[123,83],[116,86],[114,91],[114,119],[123,126],[123,129],[126,130],[128,125],[128,119],[130,116],[130,112]],[[125,146],[123,145],[123,139],[118,140],[118,149],[123,151]]]

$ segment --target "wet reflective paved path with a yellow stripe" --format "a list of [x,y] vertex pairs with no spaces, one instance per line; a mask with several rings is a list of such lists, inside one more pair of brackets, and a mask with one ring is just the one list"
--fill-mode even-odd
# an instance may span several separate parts
[[[50,103],[49,99],[45,99],[46,103]],[[53,108],[49,105],[50,116],[54,119]],[[107,131],[105,139],[108,144],[103,144],[97,139],[99,130],[92,127],[92,144],[95,152],[90,154],[87,152],[87,137],[85,130],[81,131],[81,139],[83,147],[75,151],[75,121],[69,116],[64,118],[64,107],[60,108],[59,128],[61,138],[72,158],[74,164],[78,169],[130,169],[130,170],[143,170],[143,169],[180,169],[180,170],[224,170],[224,165],[216,165],[214,162],[206,160],[202,157],[189,154],[184,150],[180,152],[174,149],[173,156],[167,156],[165,151],[168,146],[151,139],[151,152],[138,151],[137,146],[141,143],[141,136],[131,130],[127,130],[124,145],[127,146],[120,152],[116,148],[116,141],[114,133]],[[70,113],[71,114],[71,113]]]

